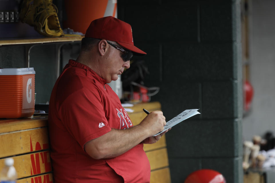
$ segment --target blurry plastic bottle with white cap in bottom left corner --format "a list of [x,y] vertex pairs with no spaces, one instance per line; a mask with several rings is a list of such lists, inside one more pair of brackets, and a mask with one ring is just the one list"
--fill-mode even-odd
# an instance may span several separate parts
[[5,159],[5,166],[0,174],[0,183],[15,183],[17,178],[16,170],[13,166],[13,158]]

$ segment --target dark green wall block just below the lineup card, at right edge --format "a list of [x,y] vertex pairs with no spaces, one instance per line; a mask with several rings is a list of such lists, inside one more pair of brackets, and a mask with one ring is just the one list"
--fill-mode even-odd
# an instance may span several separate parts
[[185,120],[166,133],[169,158],[236,157],[241,152],[240,120]]

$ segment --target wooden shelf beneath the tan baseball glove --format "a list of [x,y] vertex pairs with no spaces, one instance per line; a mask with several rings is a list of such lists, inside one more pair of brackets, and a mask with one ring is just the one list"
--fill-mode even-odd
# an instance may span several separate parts
[[3,45],[28,45],[28,44],[42,44],[42,43],[65,43],[65,42],[74,42],[81,41],[84,36],[77,37],[46,37],[38,39],[8,39],[1,40],[0,46]]

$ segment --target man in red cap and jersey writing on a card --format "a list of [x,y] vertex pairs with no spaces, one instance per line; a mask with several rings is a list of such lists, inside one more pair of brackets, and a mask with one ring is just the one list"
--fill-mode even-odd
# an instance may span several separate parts
[[49,133],[54,182],[150,182],[143,144],[164,129],[161,111],[133,126],[106,83],[130,67],[133,44],[128,23],[114,17],[91,22],[76,61],[64,67],[52,90]]

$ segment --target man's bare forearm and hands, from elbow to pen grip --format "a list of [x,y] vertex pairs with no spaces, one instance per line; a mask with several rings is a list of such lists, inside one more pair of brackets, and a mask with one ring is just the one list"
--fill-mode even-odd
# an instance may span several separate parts
[[[111,129],[110,132],[90,140],[84,145],[84,150],[94,159],[113,158],[119,156],[140,142],[152,144],[160,140],[161,132],[166,125],[165,117],[161,111],[153,111],[142,122],[125,130]],[[122,141],[121,139],[126,139]]]

